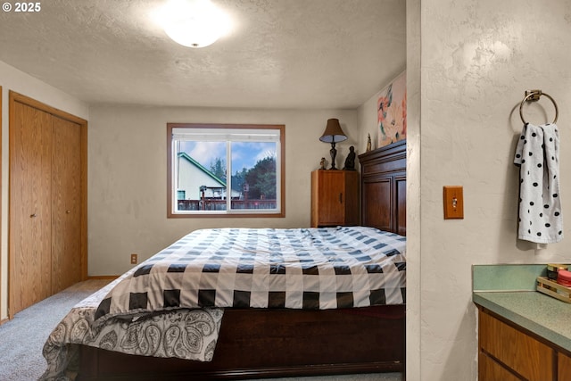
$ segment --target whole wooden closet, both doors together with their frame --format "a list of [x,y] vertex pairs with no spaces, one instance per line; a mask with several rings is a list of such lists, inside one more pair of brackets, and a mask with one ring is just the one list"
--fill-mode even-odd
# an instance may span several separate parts
[[87,277],[87,121],[10,93],[9,317]]

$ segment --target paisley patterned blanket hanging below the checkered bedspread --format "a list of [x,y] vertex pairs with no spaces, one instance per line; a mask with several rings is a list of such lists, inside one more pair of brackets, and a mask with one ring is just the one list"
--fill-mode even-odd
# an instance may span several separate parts
[[223,316],[221,309],[132,315],[95,326],[97,305],[121,278],[76,304],[54,328],[44,345],[47,369],[40,379],[74,380],[79,369],[77,344],[144,356],[211,360]]

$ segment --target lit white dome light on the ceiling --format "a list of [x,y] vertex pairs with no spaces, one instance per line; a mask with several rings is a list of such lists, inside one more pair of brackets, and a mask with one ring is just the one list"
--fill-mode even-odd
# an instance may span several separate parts
[[173,0],[163,12],[162,28],[182,46],[209,46],[228,32],[228,16],[210,0]]

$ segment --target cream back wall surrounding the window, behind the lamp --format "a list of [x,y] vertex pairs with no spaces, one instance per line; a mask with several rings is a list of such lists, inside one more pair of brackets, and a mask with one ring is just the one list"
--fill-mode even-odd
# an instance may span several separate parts
[[[129,254],[145,260],[197,228],[310,226],[310,172],[331,145],[321,143],[327,119],[349,137],[337,145],[343,167],[357,145],[354,110],[244,110],[93,106],[89,124],[88,231],[90,276],[129,269]],[[167,219],[167,122],[285,125],[285,218]]]

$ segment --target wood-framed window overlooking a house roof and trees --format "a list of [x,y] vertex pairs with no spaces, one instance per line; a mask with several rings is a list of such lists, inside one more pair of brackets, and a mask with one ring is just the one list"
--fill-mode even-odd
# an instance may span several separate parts
[[168,123],[168,217],[284,217],[284,129]]

